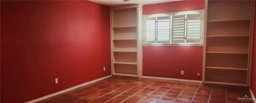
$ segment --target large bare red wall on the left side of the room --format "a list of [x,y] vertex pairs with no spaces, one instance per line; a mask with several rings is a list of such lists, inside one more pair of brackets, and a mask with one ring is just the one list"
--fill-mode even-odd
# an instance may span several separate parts
[[1,0],[0,8],[1,103],[23,103],[111,74],[109,7]]

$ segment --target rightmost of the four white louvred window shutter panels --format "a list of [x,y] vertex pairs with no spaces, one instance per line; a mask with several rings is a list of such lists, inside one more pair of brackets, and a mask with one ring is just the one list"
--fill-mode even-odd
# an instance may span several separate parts
[[187,43],[201,43],[202,14],[187,15]]

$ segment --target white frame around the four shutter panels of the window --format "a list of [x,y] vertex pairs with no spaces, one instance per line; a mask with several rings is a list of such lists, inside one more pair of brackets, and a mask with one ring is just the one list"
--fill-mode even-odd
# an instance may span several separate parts
[[[201,43],[172,43],[172,16],[184,15],[184,14],[202,14],[202,23],[201,23]],[[170,38],[169,42],[157,42],[157,38],[155,41],[146,41],[146,19],[147,18],[156,18],[156,17],[163,17],[163,16],[171,16],[171,23],[170,23]],[[204,44],[204,10],[190,10],[190,11],[182,11],[182,12],[170,12],[170,13],[159,13],[159,14],[148,14],[143,15],[143,46],[203,46]],[[186,19],[187,20],[187,19]],[[185,20],[185,21],[186,21]],[[157,22],[157,20],[156,20]],[[185,24],[187,25],[187,24]],[[156,25],[157,26],[157,25]],[[185,28],[186,29],[186,28]],[[155,31],[157,32],[157,31]],[[157,36],[157,34],[155,34]],[[186,39],[186,37],[185,37]]]

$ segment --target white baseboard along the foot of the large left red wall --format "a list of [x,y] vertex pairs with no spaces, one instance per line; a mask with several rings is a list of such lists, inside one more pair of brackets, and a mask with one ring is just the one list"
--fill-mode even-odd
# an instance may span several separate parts
[[38,101],[42,101],[42,100],[44,100],[44,99],[53,97],[53,96],[55,96],[55,95],[59,95],[59,94],[61,94],[61,93],[64,93],[64,92],[67,92],[67,91],[76,89],[76,88],[78,88],[78,87],[82,87],[82,86],[84,86],[84,85],[88,85],[88,84],[90,84],[90,83],[94,83],[94,82],[96,82],[96,81],[100,81],[100,80],[102,80],[102,79],[106,79],[106,78],[111,77],[111,76],[112,76],[112,75],[108,75],[108,76],[105,76],[105,77],[101,77],[101,78],[99,78],[99,79],[95,79],[95,80],[92,80],[92,81],[88,81],[88,82],[86,82],[86,83],[82,83],[82,84],[80,84],[80,85],[76,85],[76,86],[74,86],[74,87],[70,87],[70,88],[68,88],[68,89],[64,89],[64,90],[62,90],[62,91],[58,91],[58,92],[56,92],[56,93],[52,93],[52,94],[46,95],[46,96],[44,96],[44,97],[40,97],[40,98],[31,100],[31,101],[27,101],[27,102],[25,102],[25,103],[35,103],[35,102],[38,102]]

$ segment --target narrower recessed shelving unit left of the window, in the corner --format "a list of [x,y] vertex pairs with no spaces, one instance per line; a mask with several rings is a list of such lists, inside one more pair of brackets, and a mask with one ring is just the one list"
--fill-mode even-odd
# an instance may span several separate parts
[[138,4],[111,8],[112,74],[142,77]]

